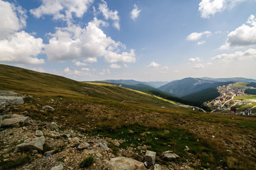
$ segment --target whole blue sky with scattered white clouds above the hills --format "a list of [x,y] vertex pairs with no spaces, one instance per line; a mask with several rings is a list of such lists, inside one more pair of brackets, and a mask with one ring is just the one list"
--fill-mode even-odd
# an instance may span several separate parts
[[255,0],[0,0],[0,63],[76,80],[256,79]]

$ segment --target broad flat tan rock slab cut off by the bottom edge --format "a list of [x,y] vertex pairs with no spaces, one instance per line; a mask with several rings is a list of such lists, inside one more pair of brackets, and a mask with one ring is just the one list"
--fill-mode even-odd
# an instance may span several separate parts
[[143,162],[128,157],[115,157],[108,161],[110,170],[146,170]]

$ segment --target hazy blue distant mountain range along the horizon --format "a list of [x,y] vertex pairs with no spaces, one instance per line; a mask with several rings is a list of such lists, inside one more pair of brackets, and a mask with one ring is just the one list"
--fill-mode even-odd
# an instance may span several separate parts
[[[199,94],[199,91],[203,91],[204,93],[207,91],[206,89],[216,89],[217,86],[223,86],[226,84],[230,84],[231,82],[256,82],[255,79],[246,79],[243,77],[235,77],[235,78],[218,78],[213,79],[209,77],[202,78],[192,78],[188,77],[185,79],[170,81],[135,81],[133,79],[129,80],[105,80],[110,84],[120,85],[126,87],[128,89],[135,89],[139,91],[151,91],[151,90],[160,90],[165,93],[171,94],[172,96],[184,97],[188,95],[192,95],[194,93]],[[152,89],[153,88],[153,89]],[[202,95],[202,94],[200,94]],[[189,97],[190,98],[190,97]]]

